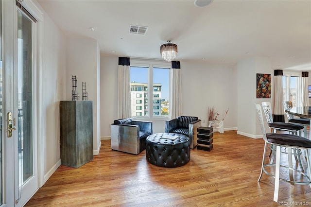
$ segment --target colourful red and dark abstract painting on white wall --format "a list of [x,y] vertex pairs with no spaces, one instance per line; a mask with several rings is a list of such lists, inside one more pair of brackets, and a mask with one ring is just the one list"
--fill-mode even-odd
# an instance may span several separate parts
[[269,99],[271,98],[271,74],[256,74],[257,90],[256,98]]

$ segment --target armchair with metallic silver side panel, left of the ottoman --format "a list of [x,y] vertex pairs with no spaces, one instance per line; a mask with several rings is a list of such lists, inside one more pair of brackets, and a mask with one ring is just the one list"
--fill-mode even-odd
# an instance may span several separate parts
[[151,121],[132,118],[115,120],[111,128],[111,149],[138,155],[146,149],[146,138],[152,135]]

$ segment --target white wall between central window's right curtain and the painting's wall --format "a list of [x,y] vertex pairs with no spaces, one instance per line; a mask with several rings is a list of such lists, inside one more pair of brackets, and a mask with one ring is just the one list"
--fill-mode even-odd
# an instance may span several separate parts
[[197,116],[202,120],[202,125],[207,126],[208,106],[215,107],[219,118],[229,108],[224,128],[237,129],[236,66],[182,61],[181,78],[184,115]]

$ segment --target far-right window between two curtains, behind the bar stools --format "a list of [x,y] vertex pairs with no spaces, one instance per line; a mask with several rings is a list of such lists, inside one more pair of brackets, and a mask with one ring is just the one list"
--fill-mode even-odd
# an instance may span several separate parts
[[293,107],[302,106],[301,72],[283,73],[283,101],[291,101]]

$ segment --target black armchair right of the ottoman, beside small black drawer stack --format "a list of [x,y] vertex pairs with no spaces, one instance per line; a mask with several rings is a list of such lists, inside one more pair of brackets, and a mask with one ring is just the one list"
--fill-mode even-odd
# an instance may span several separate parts
[[197,117],[180,116],[172,120],[165,121],[165,132],[186,135],[190,138],[190,148],[193,149],[198,144],[198,131],[201,127],[201,120]]

